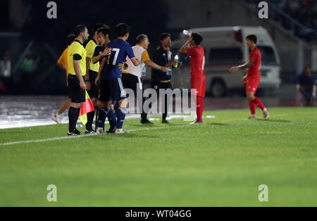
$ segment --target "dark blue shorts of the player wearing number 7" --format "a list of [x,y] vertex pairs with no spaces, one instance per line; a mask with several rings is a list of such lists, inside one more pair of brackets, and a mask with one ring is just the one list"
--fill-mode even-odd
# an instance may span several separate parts
[[120,77],[101,80],[100,101],[121,101],[126,98],[127,93]]

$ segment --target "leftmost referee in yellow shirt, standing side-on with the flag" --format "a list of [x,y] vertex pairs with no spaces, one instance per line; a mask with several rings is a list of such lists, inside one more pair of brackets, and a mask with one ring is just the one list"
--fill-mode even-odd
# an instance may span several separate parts
[[69,136],[80,135],[76,130],[76,123],[80,114],[80,108],[85,103],[86,75],[86,49],[82,44],[87,41],[89,34],[85,25],[77,25],[74,29],[75,42],[70,45],[67,53],[68,84],[70,91],[70,108],[68,110]]

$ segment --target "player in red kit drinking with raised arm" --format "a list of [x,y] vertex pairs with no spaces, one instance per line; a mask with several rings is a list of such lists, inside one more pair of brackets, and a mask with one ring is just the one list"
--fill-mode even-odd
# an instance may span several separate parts
[[[192,122],[192,124],[202,123],[202,114],[204,112],[204,102],[206,92],[206,77],[204,72],[205,66],[205,51],[202,46],[200,46],[203,37],[198,33],[192,33],[188,37],[188,41],[180,49],[180,53],[186,53],[190,56],[190,88],[196,89],[197,96],[197,120]],[[190,48],[187,49],[187,46]]]

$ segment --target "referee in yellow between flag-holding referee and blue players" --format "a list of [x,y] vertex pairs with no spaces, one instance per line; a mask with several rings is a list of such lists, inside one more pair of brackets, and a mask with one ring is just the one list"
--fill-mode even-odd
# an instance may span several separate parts
[[[94,109],[97,110],[97,98],[99,96],[99,91],[97,85],[95,84],[96,77],[99,71],[99,62],[93,63],[92,57],[94,56],[94,50],[100,44],[98,32],[99,30],[108,27],[107,25],[98,23],[94,26],[94,36],[86,45],[87,58],[86,58],[86,84],[87,91],[90,99],[92,100],[92,104],[94,105]],[[94,120],[94,111],[87,113],[87,124],[85,134],[94,134],[94,130],[92,130],[92,121]]]

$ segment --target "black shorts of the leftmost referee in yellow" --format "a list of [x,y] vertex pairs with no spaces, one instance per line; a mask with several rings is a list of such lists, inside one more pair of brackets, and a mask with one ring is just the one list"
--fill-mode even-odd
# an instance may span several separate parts
[[[85,80],[85,79],[84,79]],[[83,103],[86,101],[85,90],[80,88],[80,81],[76,75],[68,75],[69,96],[72,103]]]

